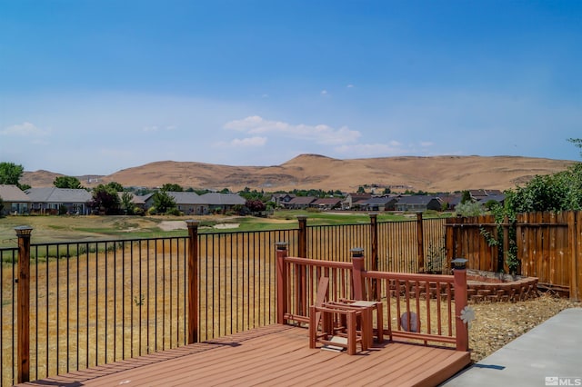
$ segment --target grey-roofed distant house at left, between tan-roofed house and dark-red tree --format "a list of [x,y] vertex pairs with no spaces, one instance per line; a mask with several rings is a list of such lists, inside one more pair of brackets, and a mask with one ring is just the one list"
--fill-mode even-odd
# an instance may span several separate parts
[[84,189],[73,188],[30,188],[26,195],[31,202],[31,213],[59,213],[65,207],[66,213],[88,214],[88,203],[93,199]]

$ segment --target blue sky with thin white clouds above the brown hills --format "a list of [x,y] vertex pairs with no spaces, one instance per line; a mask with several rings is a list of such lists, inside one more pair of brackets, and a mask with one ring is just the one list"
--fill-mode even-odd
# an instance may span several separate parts
[[580,1],[0,0],[0,161],[580,160]]

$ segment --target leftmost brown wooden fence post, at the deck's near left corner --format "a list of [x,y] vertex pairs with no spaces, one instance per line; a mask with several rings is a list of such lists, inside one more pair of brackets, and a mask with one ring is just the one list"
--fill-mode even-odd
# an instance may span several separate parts
[[18,237],[18,315],[16,382],[30,381],[30,226],[15,227]]

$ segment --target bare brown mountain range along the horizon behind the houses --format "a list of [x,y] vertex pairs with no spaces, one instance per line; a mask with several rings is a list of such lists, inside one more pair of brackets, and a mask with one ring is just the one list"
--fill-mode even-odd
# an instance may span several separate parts
[[[520,156],[381,157],[339,160],[301,154],[281,165],[229,166],[162,161],[127,168],[107,176],[77,176],[85,186],[115,181],[124,186],[183,187],[239,191],[245,187],[267,192],[324,189],[354,192],[359,186],[390,187],[392,191],[455,192],[467,189],[514,188],[537,174],[563,171],[572,161]],[[21,183],[51,186],[47,171],[25,172]],[[89,177],[97,182],[89,182]]]

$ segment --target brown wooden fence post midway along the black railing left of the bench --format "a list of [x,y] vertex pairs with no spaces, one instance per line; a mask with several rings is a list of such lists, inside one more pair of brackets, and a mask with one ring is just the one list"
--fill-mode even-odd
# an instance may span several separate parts
[[188,343],[198,342],[198,221],[188,220]]

